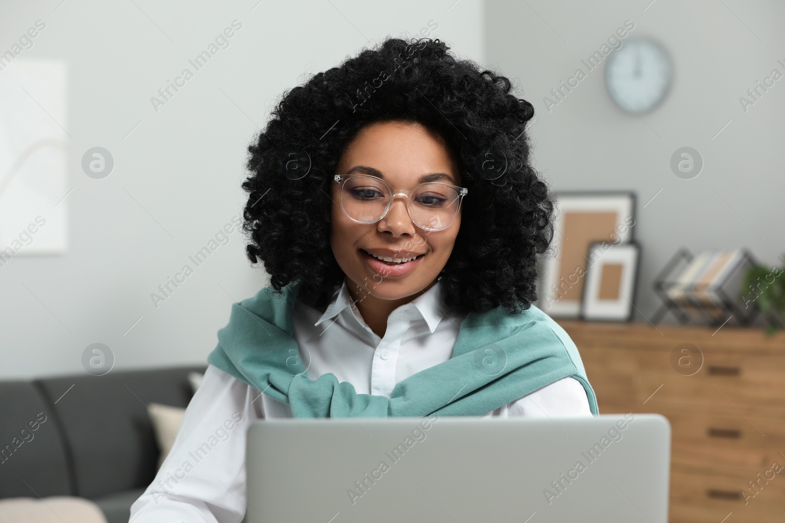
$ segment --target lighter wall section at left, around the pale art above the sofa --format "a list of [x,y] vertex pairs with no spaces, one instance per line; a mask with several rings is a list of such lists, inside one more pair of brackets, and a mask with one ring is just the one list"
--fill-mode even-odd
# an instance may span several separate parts
[[[115,369],[205,363],[231,304],[267,277],[236,232],[202,266],[188,256],[241,212],[246,147],[279,95],[429,20],[456,54],[481,60],[483,16],[478,0],[6,3],[3,51],[41,19],[46,30],[20,58],[68,60],[74,190],[68,253],[0,268],[0,378],[84,372],[91,343],[112,350]],[[151,96],[232,20],[243,26],[228,48],[155,111]],[[96,146],[115,158],[104,180],[81,169]],[[194,273],[154,307],[151,293],[186,263]]]

